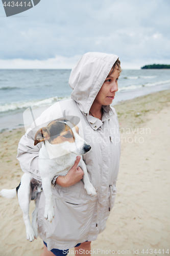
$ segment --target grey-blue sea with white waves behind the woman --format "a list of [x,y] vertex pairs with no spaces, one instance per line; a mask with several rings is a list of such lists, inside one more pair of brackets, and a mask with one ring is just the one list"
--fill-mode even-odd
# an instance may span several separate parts
[[[71,70],[0,70],[0,132],[25,125],[23,114],[32,106],[46,109],[70,98]],[[124,100],[170,89],[170,69],[123,70],[113,106]],[[26,118],[25,118],[26,119]]]

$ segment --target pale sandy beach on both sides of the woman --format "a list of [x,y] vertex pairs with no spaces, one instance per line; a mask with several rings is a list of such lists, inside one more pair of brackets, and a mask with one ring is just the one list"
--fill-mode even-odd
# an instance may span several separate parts
[[[168,255],[170,91],[145,95],[114,107],[122,140],[117,195],[107,228],[92,242],[93,254]],[[0,189],[19,184],[23,173],[16,154],[24,132],[20,128],[0,134]],[[17,198],[0,200],[0,255],[40,255],[42,241],[27,241]],[[31,202],[30,216],[33,208]]]

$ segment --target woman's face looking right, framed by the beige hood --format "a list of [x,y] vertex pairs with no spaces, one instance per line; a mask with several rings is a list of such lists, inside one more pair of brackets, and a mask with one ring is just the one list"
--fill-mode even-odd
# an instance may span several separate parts
[[110,71],[108,77],[103,83],[101,90],[95,97],[94,102],[99,105],[110,105],[114,99],[115,93],[118,91],[118,77],[120,75],[119,69],[115,67],[114,71]]

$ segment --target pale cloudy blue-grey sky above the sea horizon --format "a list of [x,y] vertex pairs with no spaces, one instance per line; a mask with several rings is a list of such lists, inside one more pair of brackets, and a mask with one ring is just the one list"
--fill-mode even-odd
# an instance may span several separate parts
[[0,68],[72,68],[88,51],[123,69],[170,64],[169,13],[169,0],[41,0],[6,17],[1,1]]

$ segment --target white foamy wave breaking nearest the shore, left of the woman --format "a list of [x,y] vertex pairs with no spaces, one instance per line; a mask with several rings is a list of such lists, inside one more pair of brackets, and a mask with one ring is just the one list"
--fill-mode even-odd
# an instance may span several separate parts
[[59,100],[69,99],[68,97],[52,97],[49,99],[43,100],[29,100],[29,101],[19,101],[19,102],[11,102],[9,104],[0,105],[0,113],[8,112],[8,111],[16,111],[21,109],[27,109],[30,106],[34,106],[34,108],[39,108],[43,106],[50,106]]

